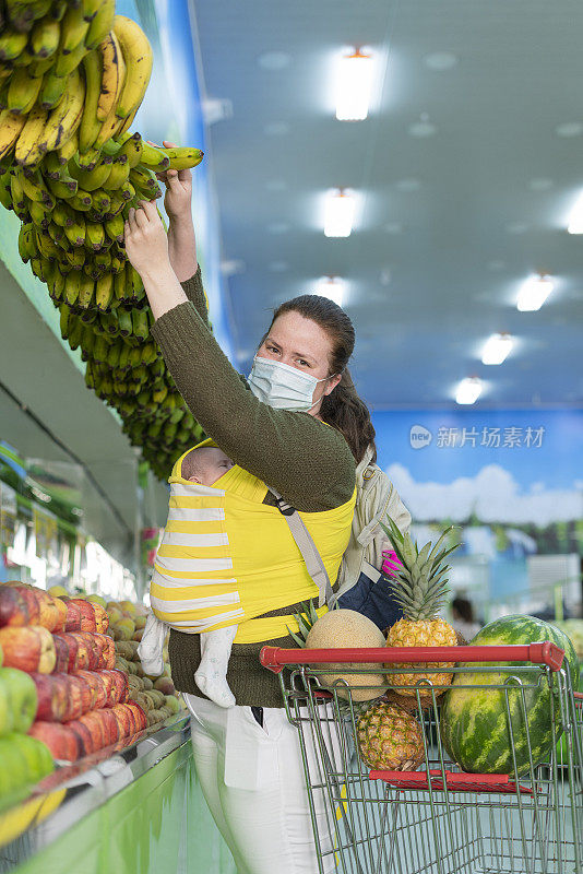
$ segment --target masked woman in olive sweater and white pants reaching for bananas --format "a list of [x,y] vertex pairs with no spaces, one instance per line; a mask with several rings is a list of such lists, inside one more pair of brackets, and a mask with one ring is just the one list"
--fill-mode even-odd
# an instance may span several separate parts
[[[346,369],[355,341],[348,317],[328,298],[306,295],[284,304],[261,342],[249,391],[209,330],[190,173],[170,172],[165,181],[168,237],[155,203],[143,203],[126,223],[126,247],[144,282],[156,319],[153,334],[180,393],[221,449],[288,504],[316,515],[348,506],[355,465],[374,439]],[[264,503],[272,500],[267,493]],[[347,517],[346,538],[350,521]],[[287,604],[265,615],[275,622],[298,607]],[[259,662],[264,645],[294,642],[281,634],[234,645],[227,682],[237,705],[228,710],[206,700],[194,684],[199,635],[171,631],[172,677],[193,714],[203,792],[239,874],[314,874],[297,729],[287,720],[278,678]],[[317,816],[323,825],[325,810]],[[328,849],[324,870],[334,871],[331,840]]]

